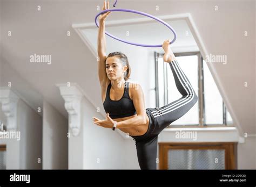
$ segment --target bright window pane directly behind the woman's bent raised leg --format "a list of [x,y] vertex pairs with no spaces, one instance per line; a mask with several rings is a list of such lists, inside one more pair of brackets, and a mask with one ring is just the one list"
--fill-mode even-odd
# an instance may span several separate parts
[[[178,61],[180,68],[183,70],[184,74],[187,76],[193,89],[196,91],[198,95],[198,57],[197,55],[177,56],[176,60]],[[163,59],[159,59],[158,63],[160,62],[166,63],[166,62],[163,62]],[[167,101],[168,103],[171,103],[174,100],[181,98],[182,96],[176,87],[171,67],[166,66],[166,68],[167,68],[167,90],[168,90]],[[159,75],[164,77],[163,76],[164,74],[159,74]],[[162,105],[159,105],[159,106],[162,106]],[[184,116],[182,116],[178,120],[174,121],[171,125],[195,125],[195,124],[199,124],[198,102],[190,109],[190,111],[188,111]]]

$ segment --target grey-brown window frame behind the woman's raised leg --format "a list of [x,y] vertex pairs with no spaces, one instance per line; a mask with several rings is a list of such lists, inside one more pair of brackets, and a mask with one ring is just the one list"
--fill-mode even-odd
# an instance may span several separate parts
[[[204,97],[204,66],[203,66],[203,56],[200,52],[182,52],[182,53],[173,53],[177,56],[191,56],[197,55],[198,57],[198,116],[199,116],[199,124],[192,125],[169,125],[166,128],[187,128],[187,127],[231,127],[234,126],[232,124],[227,125],[227,108],[223,100],[223,124],[206,124],[205,123],[205,97]],[[159,91],[158,91],[158,58],[163,57],[164,53],[154,52],[154,62],[155,62],[155,92],[156,92],[156,107],[159,107]],[[165,64],[164,64],[165,66]],[[167,104],[168,101],[168,89],[166,88],[166,77],[167,70],[164,68],[164,103]],[[201,77],[201,78],[200,78]],[[195,90],[196,91],[196,90]]]

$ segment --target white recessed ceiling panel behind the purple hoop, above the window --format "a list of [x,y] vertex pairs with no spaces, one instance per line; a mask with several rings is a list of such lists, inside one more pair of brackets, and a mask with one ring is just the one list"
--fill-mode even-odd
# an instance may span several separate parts
[[[116,12],[114,12],[116,13]],[[117,12],[119,13],[119,12]],[[111,15],[112,16],[112,15]],[[139,18],[140,16],[138,16]],[[134,18],[134,20],[138,19]],[[111,25],[106,26],[105,30],[110,34],[114,35],[117,38],[123,39],[129,42],[136,42],[139,44],[147,44],[147,45],[159,45],[163,44],[163,41],[166,39],[173,39],[174,34],[172,31],[166,27],[165,25],[159,23],[156,20],[150,21],[151,23],[143,23],[143,24],[131,24],[127,22],[125,24],[125,20],[123,25]],[[171,45],[172,48],[177,47],[194,47],[197,46],[196,41],[193,38],[193,35],[190,31],[185,20],[175,20],[175,21],[165,21],[167,24],[171,25],[172,28],[177,33],[176,41]],[[98,35],[98,27],[96,28],[84,28],[83,33],[86,38],[90,41],[93,48],[97,51],[97,35]],[[114,40],[108,35],[106,35],[106,43],[108,45],[115,45],[118,40]],[[163,52],[162,48],[153,48],[154,51]],[[199,50],[197,48],[197,50]]]

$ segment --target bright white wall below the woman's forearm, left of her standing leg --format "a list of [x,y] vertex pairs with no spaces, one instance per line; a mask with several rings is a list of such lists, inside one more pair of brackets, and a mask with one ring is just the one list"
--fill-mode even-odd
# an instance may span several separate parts
[[[93,123],[92,117],[105,119],[87,99],[82,101],[83,114],[83,169],[124,169],[125,139],[111,128],[103,128]],[[131,161],[132,163],[133,161]]]

